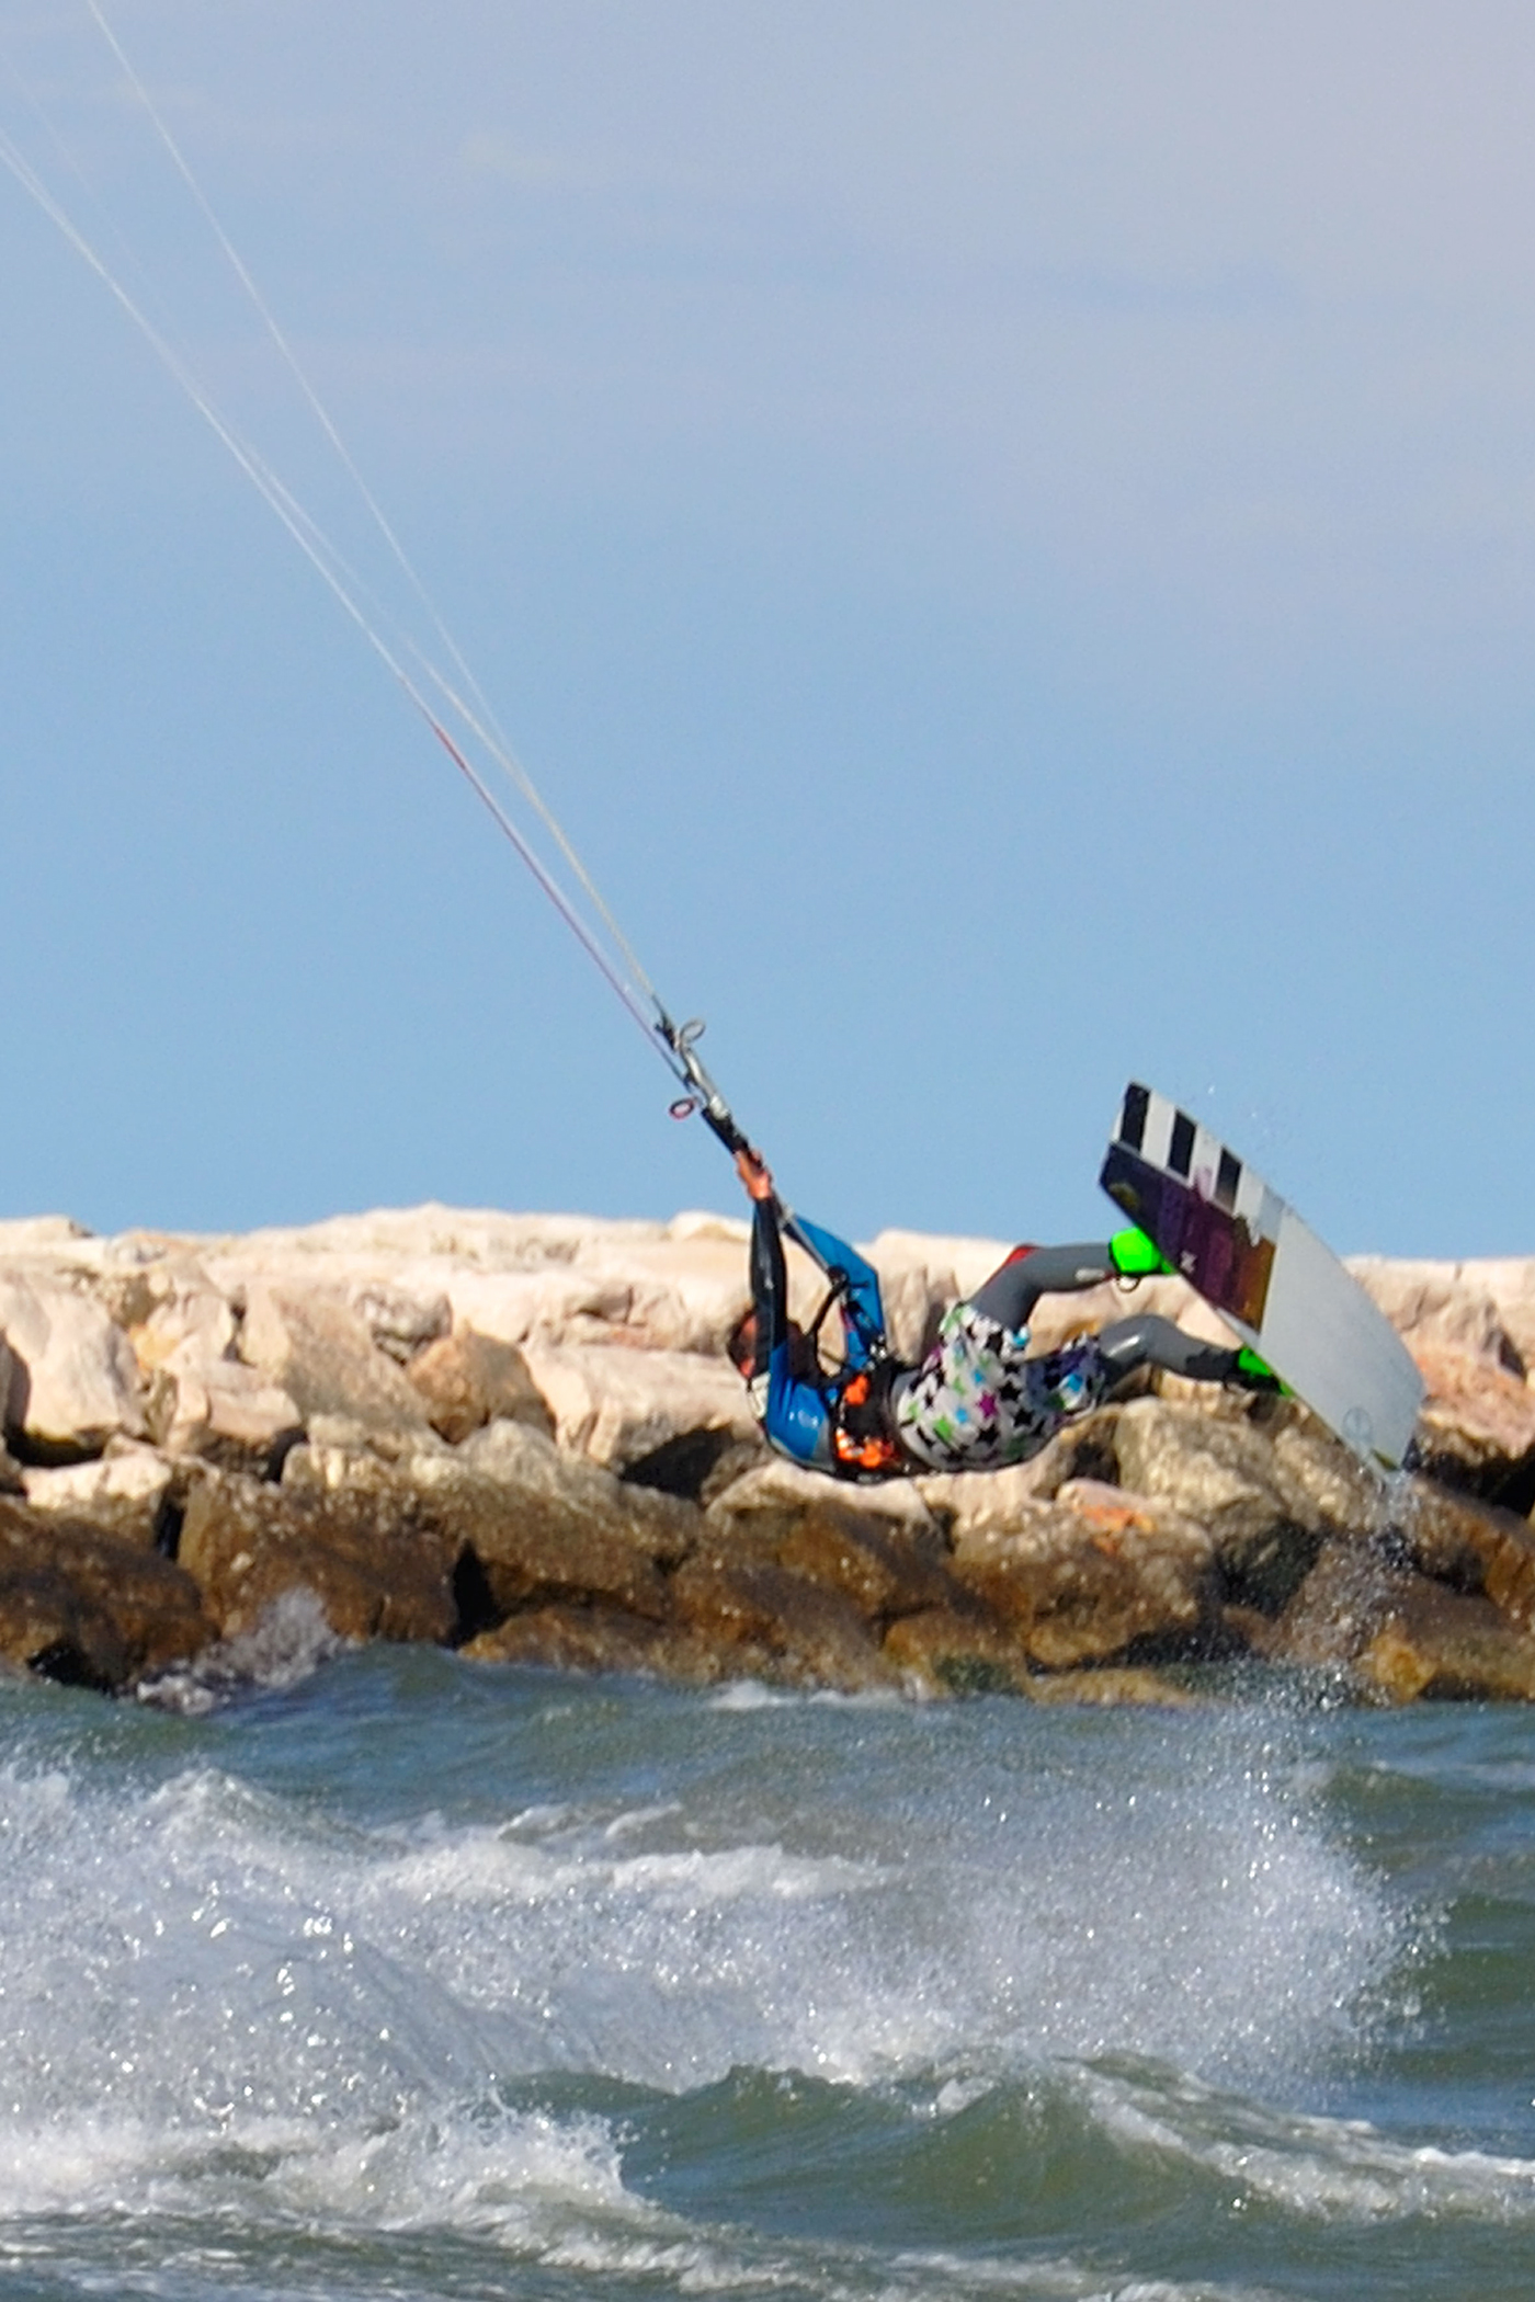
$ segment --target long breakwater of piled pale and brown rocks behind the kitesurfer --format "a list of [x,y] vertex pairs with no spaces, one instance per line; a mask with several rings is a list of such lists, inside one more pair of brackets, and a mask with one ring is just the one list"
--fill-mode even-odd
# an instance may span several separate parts
[[[999,1248],[872,1255],[916,1351]],[[711,1215],[0,1225],[0,1660],[207,1687],[297,1623],[695,1683],[1174,1701],[1252,1657],[1535,1699],[1535,1259],[1358,1266],[1429,1381],[1415,1476],[1160,1379],[1017,1471],[858,1489],[762,1448],[743,1266]],[[1141,1301],[1215,1331],[1176,1280]],[[1038,1340],[1121,1312],[1061,1298]]]

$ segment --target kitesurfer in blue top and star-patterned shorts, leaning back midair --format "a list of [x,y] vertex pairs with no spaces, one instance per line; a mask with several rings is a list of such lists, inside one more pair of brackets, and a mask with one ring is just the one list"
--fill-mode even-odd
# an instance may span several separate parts
[[[732,1333],[730,1356],[748,1381],[769,1446],[812,1471],[870,1480],[1026,1462],[1137,1367],[1167,1367],[1197,1384],[1280,1390],[1257,1351],[1201,1342],[1148,1312],[1029,1356],[1029,1319],[1040,1296],[1169,1268],[1137,1229],[1105,1245],[1013,1248],[976,1294],[950,1303],[937,1342],[914,1365],[891,1351],[872,1264],[847,1241],[794,1215],[794,1234],[828,1275],[826,1303],[805,1331],[789,1319],[773,1176],[750,1149],[736,1151],[736,1174],[753,1202],[753,1308]],[[817,1331],[833,1305],[842,1321],[842,1365],[828,1374]]]

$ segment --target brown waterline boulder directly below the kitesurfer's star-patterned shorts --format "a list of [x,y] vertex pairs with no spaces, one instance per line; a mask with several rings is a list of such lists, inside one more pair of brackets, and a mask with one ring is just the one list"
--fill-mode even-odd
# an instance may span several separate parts
[[1040,1669],[1199,1651],[1213,1637],[1215,1542],[1146,1494],[1079,1480],[1010,1533],[964,1540],[953,1568]]

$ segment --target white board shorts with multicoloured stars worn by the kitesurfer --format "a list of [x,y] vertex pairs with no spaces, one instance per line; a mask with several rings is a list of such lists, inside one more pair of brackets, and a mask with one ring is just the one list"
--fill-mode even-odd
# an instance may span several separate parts
[[1093,1340],[1026,1358],[1029,1333],[973,1303],[944,1312],[939,1340],[895,1395],[900,1443],[934,1471],[1026,1462],[1072,1416],[1098,1407],[1114,1370]]

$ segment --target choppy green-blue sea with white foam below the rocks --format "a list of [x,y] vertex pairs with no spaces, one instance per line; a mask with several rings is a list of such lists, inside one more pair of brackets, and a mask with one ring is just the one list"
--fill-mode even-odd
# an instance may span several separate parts
[[0,2281],[1535,2293],[1535,1713],[0,1685]]

